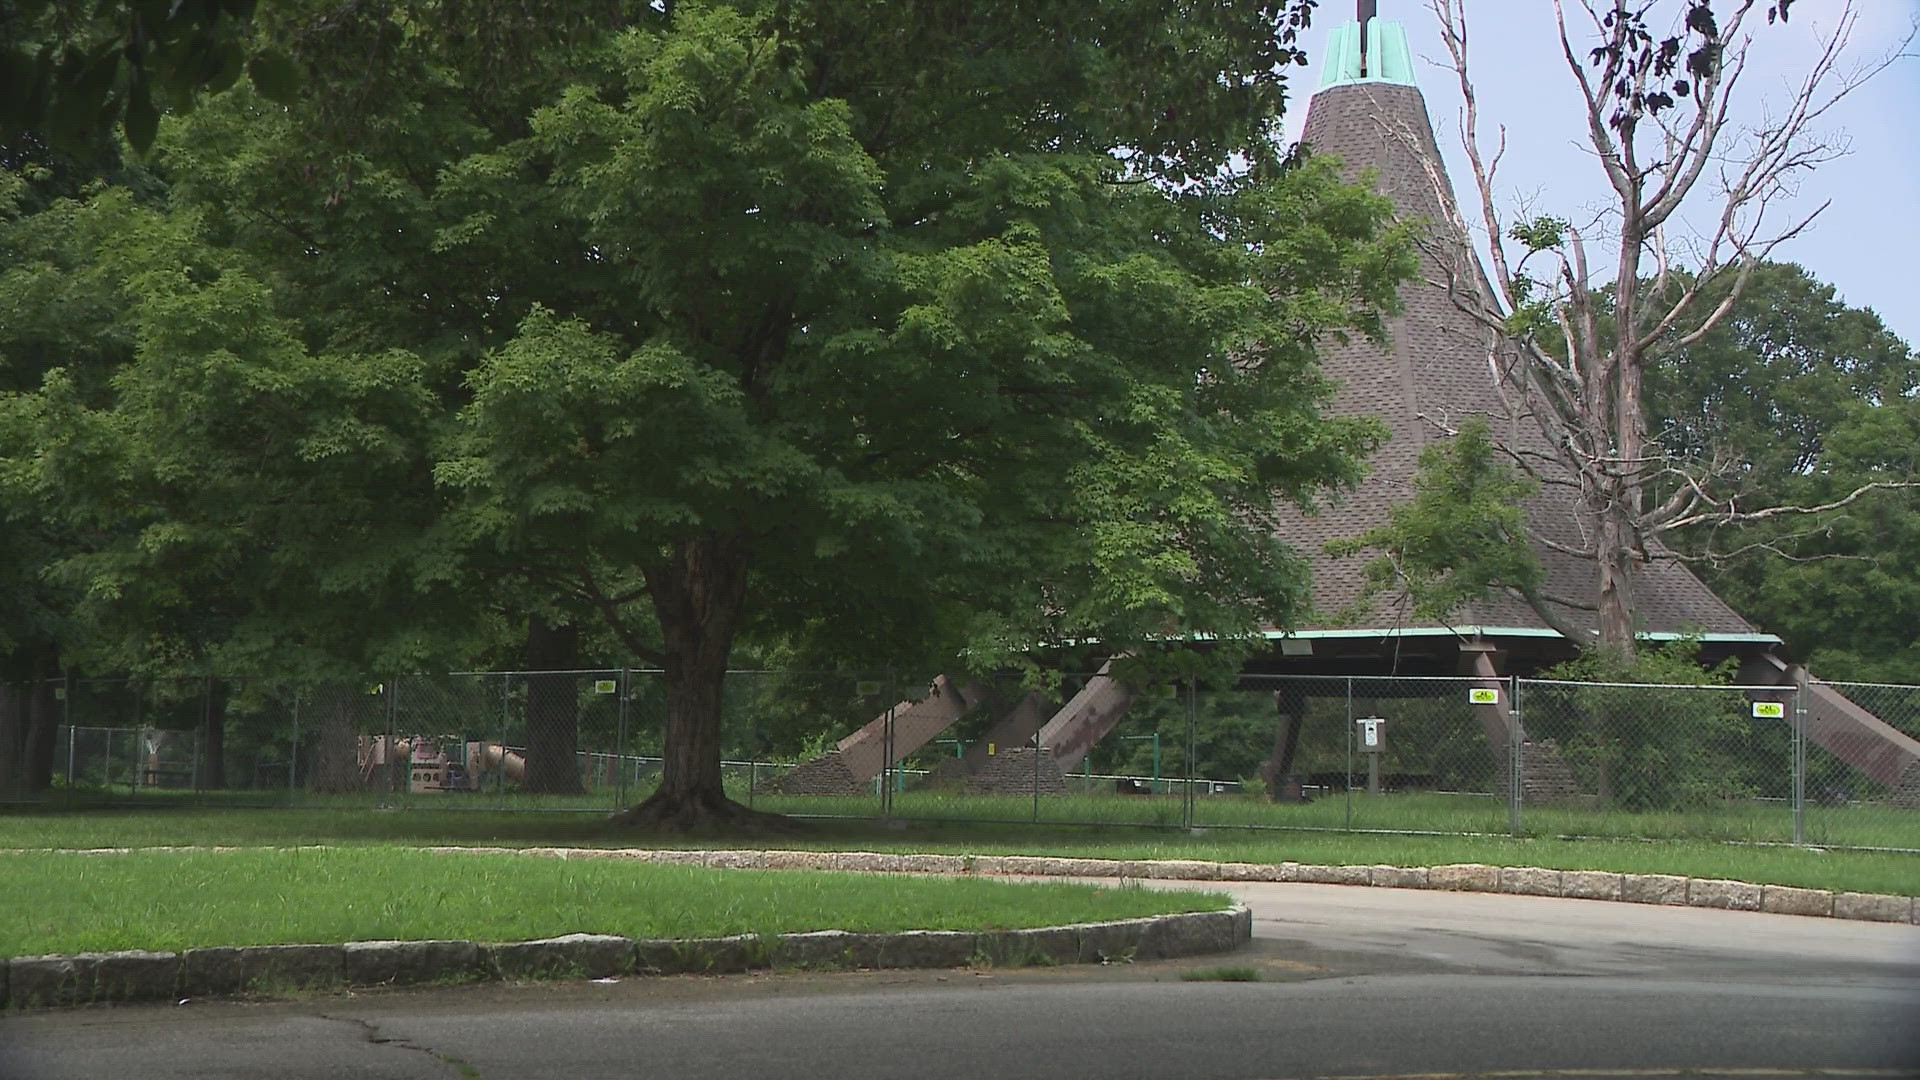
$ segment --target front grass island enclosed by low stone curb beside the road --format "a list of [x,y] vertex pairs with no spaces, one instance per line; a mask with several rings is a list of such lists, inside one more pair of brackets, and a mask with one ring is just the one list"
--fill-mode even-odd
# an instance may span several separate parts
[[0,855],[0,957],[572,932],[998,930],[1227,903],[1202,892],[369,847],[36,853]]

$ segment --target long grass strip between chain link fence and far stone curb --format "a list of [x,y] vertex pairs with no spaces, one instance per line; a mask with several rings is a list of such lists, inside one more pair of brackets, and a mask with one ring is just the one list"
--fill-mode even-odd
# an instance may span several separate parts
[[[146,809],[0,815],[0,847],[232,846],[674,846],[607,826],[599,817],[497,811]],[[1509,836],[1382,836],[1221,828],[1071,828],[1048,824],[806,822],[799,834],[687,847],[812,847],[950,851],[973,855],[1087,855],[1104,859],[1223,859],[1246,863],[1440,865],[1494,863],[1736,878],[1851,892],[1920,894],[1920,855],[1822,851],[1709,840],[1557,840]]]

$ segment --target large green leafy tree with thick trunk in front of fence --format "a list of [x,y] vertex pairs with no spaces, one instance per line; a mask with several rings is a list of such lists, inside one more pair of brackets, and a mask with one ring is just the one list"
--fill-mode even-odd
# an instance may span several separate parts
[[1279,12],[1206,12],[682,4],[447,173],[444,250],[593,284],[468,375],[440,477],[666,671],[634,821],[737,815],[749,634],[996,665],[1298,611],[1261,511],[1354,475],[1311,342],[1404,246],[1273,160]]

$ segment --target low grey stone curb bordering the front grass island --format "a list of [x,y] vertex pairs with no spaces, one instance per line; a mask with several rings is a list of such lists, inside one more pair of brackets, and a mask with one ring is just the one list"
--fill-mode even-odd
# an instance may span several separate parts
[[1254,938],[1246,905],[1029,930],[810,930],[647,940],[564,934],[538,942],[346,942],[119,951],[0,963],[0,1009],[228,997],[248,992],[730,974],[766,969],[948,969],[1131,963],[1227,953]]

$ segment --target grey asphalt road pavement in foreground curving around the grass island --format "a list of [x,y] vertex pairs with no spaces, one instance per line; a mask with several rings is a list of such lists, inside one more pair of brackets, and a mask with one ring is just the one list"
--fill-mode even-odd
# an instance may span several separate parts
[[[17,1015],[0,1020],[0,1080],[1920,1076],[1914,926],[1227,888],[1256,934],[1231,957]],[[1261,980],[1181,980],[1223,965]]]

